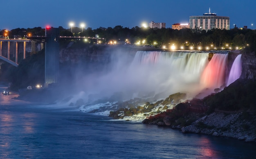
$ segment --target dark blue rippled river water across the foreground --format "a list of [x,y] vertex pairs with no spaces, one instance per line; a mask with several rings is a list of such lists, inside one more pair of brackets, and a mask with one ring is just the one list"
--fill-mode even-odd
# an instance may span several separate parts
[[0,94],[0,159],[254,159],[256,143],[111,120]]

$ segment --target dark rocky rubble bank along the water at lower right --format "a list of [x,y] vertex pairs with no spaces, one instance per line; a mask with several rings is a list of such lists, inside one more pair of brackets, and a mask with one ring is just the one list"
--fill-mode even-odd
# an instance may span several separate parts
[[[145,119],[144,124],[156,124],[182,133],[196,133],[256,142],[256,115],[248,112],[213,112],[209,115],[191,113],[172,121],[169,117]],[[195,120],[191,122],[191,120]]]

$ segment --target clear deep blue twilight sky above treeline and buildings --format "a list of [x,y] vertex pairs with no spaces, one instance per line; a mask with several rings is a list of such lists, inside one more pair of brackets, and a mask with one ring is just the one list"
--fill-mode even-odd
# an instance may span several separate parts
[[[3,0],[1,0],[2,2]],[[0,30],[45,26],[142,26],[143,22],[189,23],[189,16],[209,12],[230,17],[230,25],[256,29],[256,0],[4,0]],[[253,26],[252,26],[253,24]]]

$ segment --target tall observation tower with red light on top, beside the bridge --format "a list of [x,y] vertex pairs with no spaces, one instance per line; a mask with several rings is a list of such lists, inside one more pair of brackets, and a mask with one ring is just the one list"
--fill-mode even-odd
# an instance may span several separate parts
[[59,76],[59,28],[45,29],[45,87],[58,82]]

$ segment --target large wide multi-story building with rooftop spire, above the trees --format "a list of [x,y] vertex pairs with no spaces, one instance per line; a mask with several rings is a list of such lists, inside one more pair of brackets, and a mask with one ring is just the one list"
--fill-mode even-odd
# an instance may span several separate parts
[[202,16],[190,16],[189,23],[191,29],[211,30],[213,28],[230,29],[229,17],[217,16],[216,13],[204,13]]

